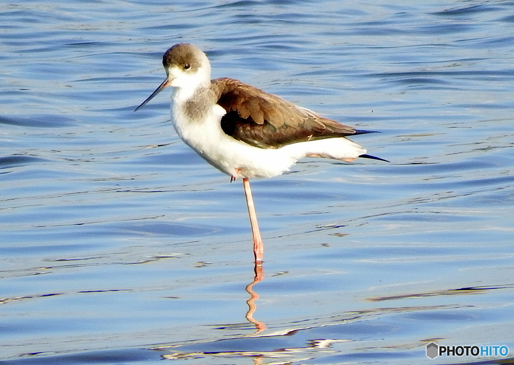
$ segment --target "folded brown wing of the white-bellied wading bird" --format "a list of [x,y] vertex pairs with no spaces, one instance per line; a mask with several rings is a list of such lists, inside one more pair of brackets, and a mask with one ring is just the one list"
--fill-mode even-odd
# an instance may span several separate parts
[[218,105],[227,111],[221,120],[223,131],[255,147],[280,148],[359,133],[238,80],[221,78],[211,84]]

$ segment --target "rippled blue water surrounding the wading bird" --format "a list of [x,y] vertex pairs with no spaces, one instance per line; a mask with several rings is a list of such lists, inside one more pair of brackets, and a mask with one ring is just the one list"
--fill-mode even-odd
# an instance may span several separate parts
[[[514,353],[514,2],[0,5],[0,363],[474,363]],[[240,182],[173,131],[163,52],[360,129]],[[248,301],[248,302],[247,302]],[[249,311],[249,312],[248,312]],[[425,355],[505,345],[507,356]],[[485,363],[485,362],[482,362]]]

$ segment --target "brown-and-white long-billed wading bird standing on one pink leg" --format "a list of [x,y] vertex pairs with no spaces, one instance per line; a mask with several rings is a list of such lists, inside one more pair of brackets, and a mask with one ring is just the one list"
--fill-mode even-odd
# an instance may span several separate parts
[[169,48],[162,65],[166,79],[134,111],[171,86],[178,136],[230,182],[243,180],[255,265],[262,265],[264,244],[249,179],[279,176],[304,157],[388,162],[346,138],[374,131],[343,125],[236,79],[211,80],[207,55],[192,44]]

